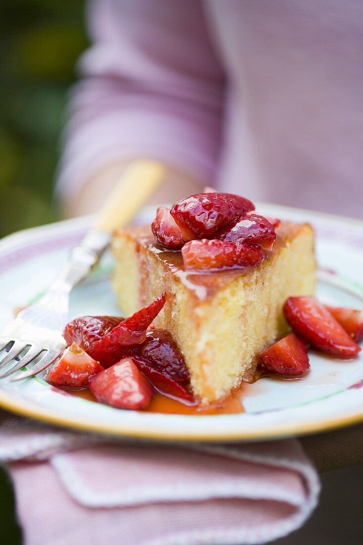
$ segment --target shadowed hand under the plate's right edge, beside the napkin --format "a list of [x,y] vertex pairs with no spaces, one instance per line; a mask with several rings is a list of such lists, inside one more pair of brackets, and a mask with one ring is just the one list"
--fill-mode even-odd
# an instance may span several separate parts
[[320,473],[363,462],[363,424],[300,438]]

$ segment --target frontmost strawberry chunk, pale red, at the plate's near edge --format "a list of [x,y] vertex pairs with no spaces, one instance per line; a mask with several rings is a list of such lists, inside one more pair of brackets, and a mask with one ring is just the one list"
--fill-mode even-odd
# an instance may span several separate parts
[[131,358],[104,369],[88,383],[97,401],[116,409],[146,409],[153,397],[152,387]]

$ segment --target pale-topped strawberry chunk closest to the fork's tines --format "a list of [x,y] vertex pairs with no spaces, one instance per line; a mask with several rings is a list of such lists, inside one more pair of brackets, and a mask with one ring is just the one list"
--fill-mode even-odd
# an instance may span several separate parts
[[103,367],[91,358],[77,343],[72,343],[47,374],[53,386],[85,388],[88,378],[103,371]]

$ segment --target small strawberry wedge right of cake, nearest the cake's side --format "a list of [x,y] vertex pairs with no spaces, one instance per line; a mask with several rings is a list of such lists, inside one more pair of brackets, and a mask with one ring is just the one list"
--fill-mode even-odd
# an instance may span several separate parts
[[259,361],[270,373],[285,377],[301,377],[310,367],[306,344],[294,333],[265,350]]

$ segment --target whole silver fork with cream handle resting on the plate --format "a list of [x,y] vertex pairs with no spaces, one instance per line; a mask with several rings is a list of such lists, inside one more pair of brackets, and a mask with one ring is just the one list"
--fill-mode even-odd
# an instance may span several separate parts
[[[0,336],[0,379],[34,377],[59,358],[66,348],[62,332],[68,322],[71,289],[88,275],[110,244],[114,229],[124,227],[132,219],[164,174],[164,167],[152,160],[134,161],[125,169],[93,226],[72,248],[57,280],[41,299],[20,311],[5,327]],[[33,366],[13,376],[29,364]]]

